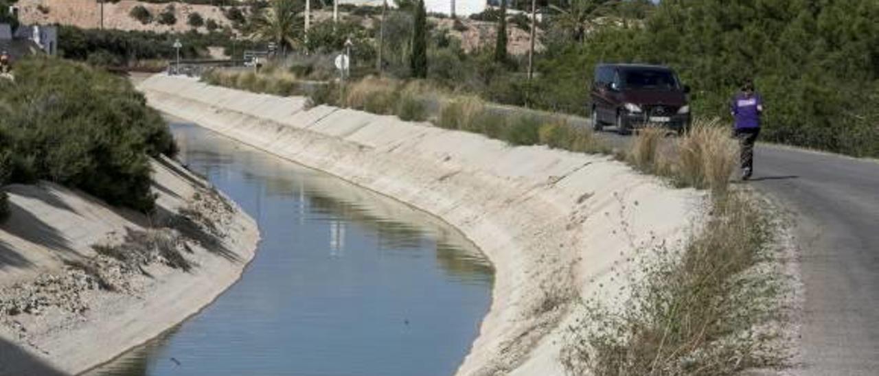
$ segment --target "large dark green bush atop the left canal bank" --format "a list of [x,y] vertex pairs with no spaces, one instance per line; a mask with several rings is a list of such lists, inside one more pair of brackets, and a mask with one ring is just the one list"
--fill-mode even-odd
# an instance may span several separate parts
[[84,64],[32,57],[18,61],[16,83],[0,89],[8,182],[47,179],[112,205],[153,207],[149,155],[173,155],[176,145],[131,83]]

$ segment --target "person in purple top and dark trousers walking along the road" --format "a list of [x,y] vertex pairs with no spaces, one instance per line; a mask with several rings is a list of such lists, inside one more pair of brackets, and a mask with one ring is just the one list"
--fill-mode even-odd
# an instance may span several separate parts
[[760,116],[763,98],[754,90],[751,80],[742,84],[742,90],[732,98],[730,113],[735,119],[733,134],[738,139],[742,166],[742,180],[754,173],[754,142],[760,134]]

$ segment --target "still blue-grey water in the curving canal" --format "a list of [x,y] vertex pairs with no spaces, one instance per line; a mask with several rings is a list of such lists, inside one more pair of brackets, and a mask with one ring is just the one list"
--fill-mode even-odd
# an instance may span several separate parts
[[[89,375],[450,375],[493,271],[454,228],[193,125],[180,159],[258,221],[257,256],[200,314]],[[149,315],[149,313],[144,313]]]

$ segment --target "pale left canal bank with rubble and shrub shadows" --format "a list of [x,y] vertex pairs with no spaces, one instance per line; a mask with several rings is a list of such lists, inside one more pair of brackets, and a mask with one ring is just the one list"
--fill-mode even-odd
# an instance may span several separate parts
[[[83,372],[197,313],[240,277],[256,223],[178,164],[153,167],[149,218],[56,184],[5,187],[0,375]],[[150,229],[159,222],[166,227]],[[93,248],[123,243],[147,256],[125,264]]]

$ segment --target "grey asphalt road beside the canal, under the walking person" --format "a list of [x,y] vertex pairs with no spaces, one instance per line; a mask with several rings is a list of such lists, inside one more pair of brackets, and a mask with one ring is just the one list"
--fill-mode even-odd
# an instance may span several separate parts
[[805,301],[802,364],[791,371],[879,375],[879,161],[760,144],[746,184],[795,221]]

